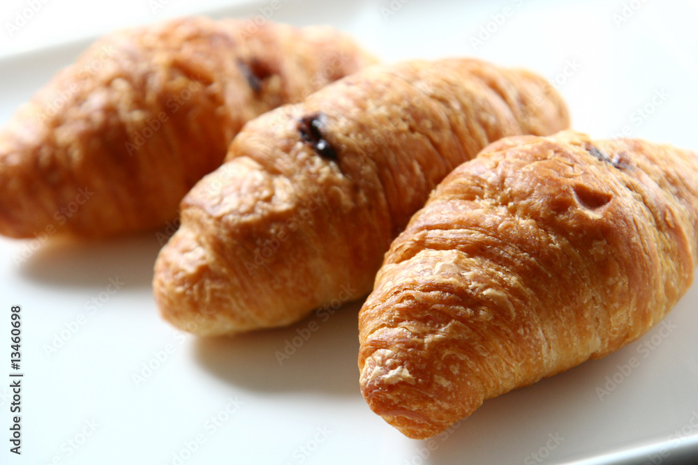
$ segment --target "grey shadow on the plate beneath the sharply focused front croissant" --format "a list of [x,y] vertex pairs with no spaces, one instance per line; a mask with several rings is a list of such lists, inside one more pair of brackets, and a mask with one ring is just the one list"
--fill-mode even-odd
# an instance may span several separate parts
[[[671,421],[648,420],[648,409],[638,408],[637,404],[641,399],[661,404],[665,400],[660,399],[662,395],[671,397],[669,372],[658,373],[648,360],[632,370],[631,381],[608,387],[610,376],[615,379],[621,366],[637,356],[638,344],[629,344],[600,360],[588,360],[531,386],[485,400],[480,409],[458,422],[454,429],[431,440],[414,441],[413,457],[422,458],[420,463],[438,465],[463,463],[463,457],[468,457],[468,463],[477,464],[533,464],[542,463],[544,458],[546,462],[567,463],[570,457],[592,459],[626,443],[637,448],[645,439],[671,437]],[[666,379],[667,388],[656,395],[646,390],[642,380],[648,376]],[[667,407],[665,413],[670,418],[673,412]],[[680,417],[684,416],[688,418],[682,411]],[[658,426],[660,421],[666,425]],[[658,438],[657,432],[662,428],[667,429],[667,434]],[[419,459],[408,462],[417,463]],[[637,463],[645,462],[646,457],[641,457]]]

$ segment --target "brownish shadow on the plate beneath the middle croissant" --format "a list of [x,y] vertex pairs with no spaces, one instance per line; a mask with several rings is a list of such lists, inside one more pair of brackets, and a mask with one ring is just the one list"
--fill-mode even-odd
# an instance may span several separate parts
[[248,390],[360,395],[361,304],[349,303],[331,316],[313,313],[288,328],[201,339],[195,357],[214,376]]

